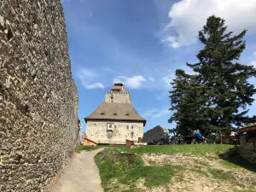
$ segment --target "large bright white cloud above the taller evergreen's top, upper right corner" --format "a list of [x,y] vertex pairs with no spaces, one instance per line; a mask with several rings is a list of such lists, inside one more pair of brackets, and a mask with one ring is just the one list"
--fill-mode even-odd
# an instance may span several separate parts
[[210,15],[226,20],[228,30],[256,32],[256,0],[181,0],[169,12],[170,23],[165,27],[162,42],[172,48],[193,44],[198,31]]

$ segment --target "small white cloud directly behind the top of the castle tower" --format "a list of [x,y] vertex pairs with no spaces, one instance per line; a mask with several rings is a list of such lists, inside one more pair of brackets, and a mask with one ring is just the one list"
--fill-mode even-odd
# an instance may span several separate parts
[[146,79],[144,79],[141,75],[131,76],[130,78],[126,76],[119,76],[116,79],[113,79],[113,83],[124,83],[125,85],[127,85],[127,87],[130,87],[131,89],[140,88],[145,81]]

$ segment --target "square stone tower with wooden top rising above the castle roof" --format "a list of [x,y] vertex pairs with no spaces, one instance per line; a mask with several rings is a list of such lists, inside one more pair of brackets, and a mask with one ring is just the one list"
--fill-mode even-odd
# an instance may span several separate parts
[[113,84],[113,89],[106,92],[105,102],[129,103],[131,104],[130,92],[126,91],[125,84]]

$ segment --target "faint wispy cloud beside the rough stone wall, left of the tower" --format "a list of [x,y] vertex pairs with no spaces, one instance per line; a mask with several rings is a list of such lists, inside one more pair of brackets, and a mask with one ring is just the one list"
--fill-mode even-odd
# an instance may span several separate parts
[[83,84],[84,87],[88,90],[105,88],[102,83],[93,82],[99,77],[99,75],[88,68],[82,68],[81,70],[79,70],[79,73],[77,73],[76,76],[79,78],[81,84]]

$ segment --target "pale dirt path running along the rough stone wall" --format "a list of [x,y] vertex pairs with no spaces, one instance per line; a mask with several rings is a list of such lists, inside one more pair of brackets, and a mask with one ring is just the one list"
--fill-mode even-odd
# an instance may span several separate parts
[[49,192],[103,192],[101,178],[94,156],[103,148],[94,151],[82,151],[63,170],[57,182],[49,186]]

